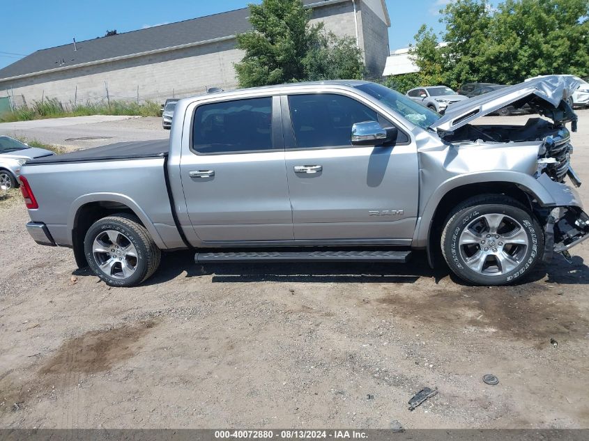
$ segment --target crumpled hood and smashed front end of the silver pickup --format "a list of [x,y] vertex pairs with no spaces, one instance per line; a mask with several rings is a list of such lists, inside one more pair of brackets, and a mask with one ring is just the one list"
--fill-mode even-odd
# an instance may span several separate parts
[[[574,189],[563,183],[568,177],[574,187],[581,187],[581,180],[570,164],[573,147],[566,127],[570,123],[571,130],[576,132],[577,116],[568,98],[578,86],[579,79],[570,75],[537,77],[460,102],[431,126],[449,143],[470,141],[505,146],[540,141],[537,171],[533,174],[552,201],[539,201],[530,195],[530,203],[544,226],[545,262],[551,261],[554,253],[563,254],[570,261],[568,250],[589,238],[589,216],[583,212]],[[551,121],[530,118],[523,126],[471,124],[506,105],[528,105]]]

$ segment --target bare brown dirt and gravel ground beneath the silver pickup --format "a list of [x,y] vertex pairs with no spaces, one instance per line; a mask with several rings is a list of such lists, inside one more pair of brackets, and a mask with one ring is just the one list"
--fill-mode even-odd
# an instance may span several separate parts
[[[2,428],[589,428],[587,244],[505,288],[422,255],[202,267],[188,252],[109,288],[36,246],[27,220],[0,199]],[[426,386],[438,394],[409,411]]]

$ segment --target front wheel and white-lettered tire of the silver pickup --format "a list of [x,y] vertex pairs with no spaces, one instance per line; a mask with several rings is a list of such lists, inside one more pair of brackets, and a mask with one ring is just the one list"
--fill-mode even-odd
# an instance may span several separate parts
[[[496,228],[489,227],[485,216],[500,219]],[[493,230],[498,234],[490,234]],[[465,244],[463,238],[473,242]],[[515,243],[514,238],[527,242],[510,245],[510,240]],[[515,199],[493,194],[475,196],[450,212],[441,248],[450,270],[461,279],[483,286],[512,284],[542,260],[544,233],[530,210]],[[473,268],[481,261],[480,270]]]

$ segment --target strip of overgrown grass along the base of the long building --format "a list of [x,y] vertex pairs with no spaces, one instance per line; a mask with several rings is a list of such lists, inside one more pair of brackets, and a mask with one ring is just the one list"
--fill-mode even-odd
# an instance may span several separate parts
[[160,105],[157,102],[111,101],[107,103],[86,103],[86,105],[64,105],[55,98],[36,101],[29,107],[22,107],[0,115],[0,123],[14,121],[31,121],[33,119],[63,118],[66,116],[89,115],[129,115],[129,116],[160,116]]

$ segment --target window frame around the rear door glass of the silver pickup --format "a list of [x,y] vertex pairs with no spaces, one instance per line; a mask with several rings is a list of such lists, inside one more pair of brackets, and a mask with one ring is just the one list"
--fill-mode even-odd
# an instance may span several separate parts
[[[230,152],[215,152],[215,153],[201,153],[194,149],[194,118],[197,115],[197,110],[199,107],[211,105],[211,104],[218,104],[220,102],[231,102],[231,101],[244,101],[244,100],[256,100],[259,98],[270,98],[270,103],[272,107],[272,123],[270,124],[270,130],[272,130],[272,148],[263,148],[260,150],[240,150],[240,151],[230,151]],[[275,94],[268,94],[268,95],[253,95],[253,96],[233,96],[233,97],[226,97],[222,100],[206,100],[203,102],[197,103],[192,110],[192,115],[190,116],[190,139],[188,141],[188,148],[191,153],[197,156],[222,156],[222,155],[247,155],[248,153],[276,153],[276,152],[284,152],[284,139],[282,136],[282,118],[281,118],[281,108],[280,108],[280,95]]]

